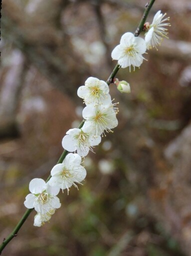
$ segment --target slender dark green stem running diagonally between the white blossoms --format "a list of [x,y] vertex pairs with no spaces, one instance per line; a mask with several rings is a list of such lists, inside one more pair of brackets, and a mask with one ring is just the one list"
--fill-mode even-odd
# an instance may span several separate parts
[[[147,16],[148,16],[149,11],[150,11],[150,9],[151,9],[151,7],[152,7],[152,5],[153,5],[154,2],[155,2],[155,0],[150,0],[150,1],[146,4],[146,6],[145,6],[145,11],[144,11],[144,13],[143,13],[143,17],[142,17],[142,19],[141,19],[141,21],[140,21],[140,23],[139,23],[138,28],[136,29],[136,31],[135,31],[135,33],[134,33],[135,36],[138,36],[138,35],[141,33],[141,31],[142,31],[142,29],[143,29],[143,26],[144,26],[144,23],[145,23],[145,21],[146,21],[146,18],[147,18]],[[117,72],[119,71],[120,67],[121,67],[121,66],[120,66],[119,64],[117,64],[117,65],[114,67],[112,73],[110,74],[109,78],[107,79],[107,84],[108,84],[108,85],[110,85],[110,83],[113,82],[113,79],[114,79],[115,75],[117,74]],[[81,127],[84,125],[84,122],[85,122],[85,121],[83,120],[83,121],[80,123],[80,125],[79,125],[78,128],[81,128]],[[64,158],[66,157],[67,153],[68,153],[68,151],[67,151],[67,150],[64,150],[63,153],[61,154],[60,158],[58,159],[58,162],[57,162],[57,163],[63,162],[63,160],[64,160]],[[50,175],[48,176],[48,178],[46,179],[46,182],[47,182],[50,178],[51,178],[51,174],[50,174]],[[3,248],[7,245],[7,243],[8,243],[13,237],[15,237],[15,236],[17,235],[18,230],[21,228],[21,226],[23,225],[24,221],[27,219],[27,217],[29,216],[29,214],[32,212],[33,209],[34,209],[34,208],[32,208],[32,209],[27,209],[27,210],[25,211],[24,215],[21,217],[21,219],[20,219],[19,222],[17,223],[17,225],[15,226],[15,228],[13,229],[13,231],[12,231],[6,238],[4,238],[3,242],[2,242],[1,245],[0,245],[0,254],[1,254],[2,250],[3,250]]]

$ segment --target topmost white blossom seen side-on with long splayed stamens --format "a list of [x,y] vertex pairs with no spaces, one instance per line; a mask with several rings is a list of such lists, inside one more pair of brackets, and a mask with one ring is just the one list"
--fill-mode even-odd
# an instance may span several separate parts
[[155,14],[153,22],[149,26],[148,32],[145,34],[147,49],[151,49],[153,47],[157,49],[157,45],[161,44],[163,38],[168,38],[168,28],[165,28],[165,26],[171,26],[171,24],[168,22],[164,23],[165,21],[168,21],[170,19],[170,17],[164,18],[166,14],[167,13],[161,13],[161,10],[159,10]]

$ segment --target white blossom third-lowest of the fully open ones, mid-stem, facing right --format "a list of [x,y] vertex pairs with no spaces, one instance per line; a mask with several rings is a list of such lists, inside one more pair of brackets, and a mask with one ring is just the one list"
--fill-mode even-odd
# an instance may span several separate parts
[[62,139],[63,148],[69,152],[77,151],[83,157],[101,142],[101,136],[91,134],[90,127],[69,129],[66,134]]

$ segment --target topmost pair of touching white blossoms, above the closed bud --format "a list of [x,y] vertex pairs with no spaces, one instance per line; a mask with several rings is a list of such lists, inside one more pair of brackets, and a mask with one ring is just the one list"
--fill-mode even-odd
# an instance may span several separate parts
[[[167,37],[167,28],[166,26],[170,26],[170,23],[164,23],[168,21],[170,18],[164,18],[166,15],[161,13],[159,10],[153,19],[152,24],[146,22],[144,25],[144,29],[147,31],[145,33],[145,39],[135,36],[131,32],[127,32],[122,35],[120,44],[117,45],[111,56],[113,59],[118,60],[118,64],[122,67],[128,67],[131,71],[131,65],[134,70],[136,66],[140,66],[145,59],[143,54],[147,49],[151,49],[153,47],[157,48],[157,45],[160,45],[163,38]],[[165,27],[164,27],[165,26]]]

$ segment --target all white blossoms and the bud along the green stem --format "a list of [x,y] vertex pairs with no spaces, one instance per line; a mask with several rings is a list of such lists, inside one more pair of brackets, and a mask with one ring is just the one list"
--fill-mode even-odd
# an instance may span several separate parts
[[[118,64],[125,68],[131,65],[134,70],[139,67],[143,60],[143,54],[147,49],[157,48],[164,37],[167,37],[167,28],[170,23],[164,18],[166,14],[158,11],[150,25],[144,25],[146,31],[145,39],[136,37],[131,32],[122,35],[120,44],[117,45],[111,56],[118,60]],[[117,78],[114,79],[117,89],[120,92],[129,93],[131,91],[128,82]],[[82,111],[84,118],[83,126],[69,129],[62,139],[62,146],[67,150],[66,157],[61,163],[56,164],[51,170],[51,177],[47,182],[41,178],[34,178],[29,183],[29,193],[24,201],[24,205],[34,208],[37,214],[34,217],[34,225],[41,226],[51,218],[51,215],[61,206],[59,198],[56,196],[60,189],[67,189],[73,185],[78,188],[78,184],[86,177],[86,170],[81,165],[82,157],[85,157],[89,150],[93,152],[95,145],[101,142],[101,137],[112,131],[118,125],[116,114],[118,112],[117,103],[113,103],[109,94],[109,86],[96,77],[89,77],[83,86],[78,88],[77,94],[85,103]],[[70,153],[68,153],[70,152]]]

